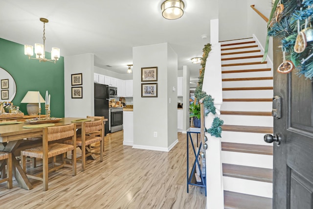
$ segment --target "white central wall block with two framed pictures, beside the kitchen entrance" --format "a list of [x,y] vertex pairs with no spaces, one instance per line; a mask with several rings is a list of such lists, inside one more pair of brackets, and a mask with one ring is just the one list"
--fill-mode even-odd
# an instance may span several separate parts
[[[133,47],[133,64],[134,148],[168,151],[177,139],[177,91],[172,91],[177,87],[177,54],[167,43]],[[157,67],[157,97],[141,97],[143,67]]]

